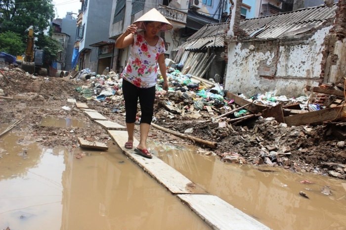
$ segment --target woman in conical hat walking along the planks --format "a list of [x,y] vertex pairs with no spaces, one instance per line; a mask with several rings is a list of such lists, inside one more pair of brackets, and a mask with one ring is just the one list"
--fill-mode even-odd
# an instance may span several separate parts
[[[172,29],[173,26],[155,8],[148,11],[116,40],[116,48],[131,45],[128,65],[125,67],[123,77],[123,94],[126,110],[126,127],[128,141],[126,149],[133,148],[134,122],[137,114],[137,101],[141,109],[140,141],[134,151],[144,157],[152,158],[147,150],[146,141],[154,113],[155,86],[157,82],[157,64],[164,79],[163,89],[168,90],[165,64],[165,46],[162,38],[157,34],[161,30]],[[145,29],[136,32],[137,29]]]

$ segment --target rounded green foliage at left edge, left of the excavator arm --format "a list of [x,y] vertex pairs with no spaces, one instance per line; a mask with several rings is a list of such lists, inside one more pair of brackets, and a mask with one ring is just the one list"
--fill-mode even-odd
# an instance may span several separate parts
[[23,54],[24,50],[25,44],[18,34],[11,31],[0,34],[0,51],[16,56]]

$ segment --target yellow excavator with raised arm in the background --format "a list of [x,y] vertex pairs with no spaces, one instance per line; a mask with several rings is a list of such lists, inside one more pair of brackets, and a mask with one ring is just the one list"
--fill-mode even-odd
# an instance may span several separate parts
[[43,55],[43,50],[34,49],[34,32],[33,29],[30,28],[26,41],[26,49],[24,61],[22,62],[22,69],[29,74],[47,76],[47,69],[42,68]]

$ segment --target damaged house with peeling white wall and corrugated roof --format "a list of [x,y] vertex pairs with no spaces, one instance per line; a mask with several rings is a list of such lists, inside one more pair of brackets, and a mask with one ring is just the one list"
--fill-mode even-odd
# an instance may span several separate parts
[[[240,18],[235,8],[232,18]],[[306,85],[340,81],[346,46],[334,33],[336,10],[321,5],[230,25],[224,88],[248,97],[274,90],[292,97]]]

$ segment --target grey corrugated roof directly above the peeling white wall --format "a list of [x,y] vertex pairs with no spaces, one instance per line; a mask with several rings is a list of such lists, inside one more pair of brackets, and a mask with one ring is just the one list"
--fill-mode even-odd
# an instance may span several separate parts
[[293,36],[319,27],[327,21],[332,22],[337,8],[336,4],[331,8],[321,5],[260,18],[245,19],[240,21],[240,28],[251,35],[266,26],[265,30],[254,36],[256,38]]

